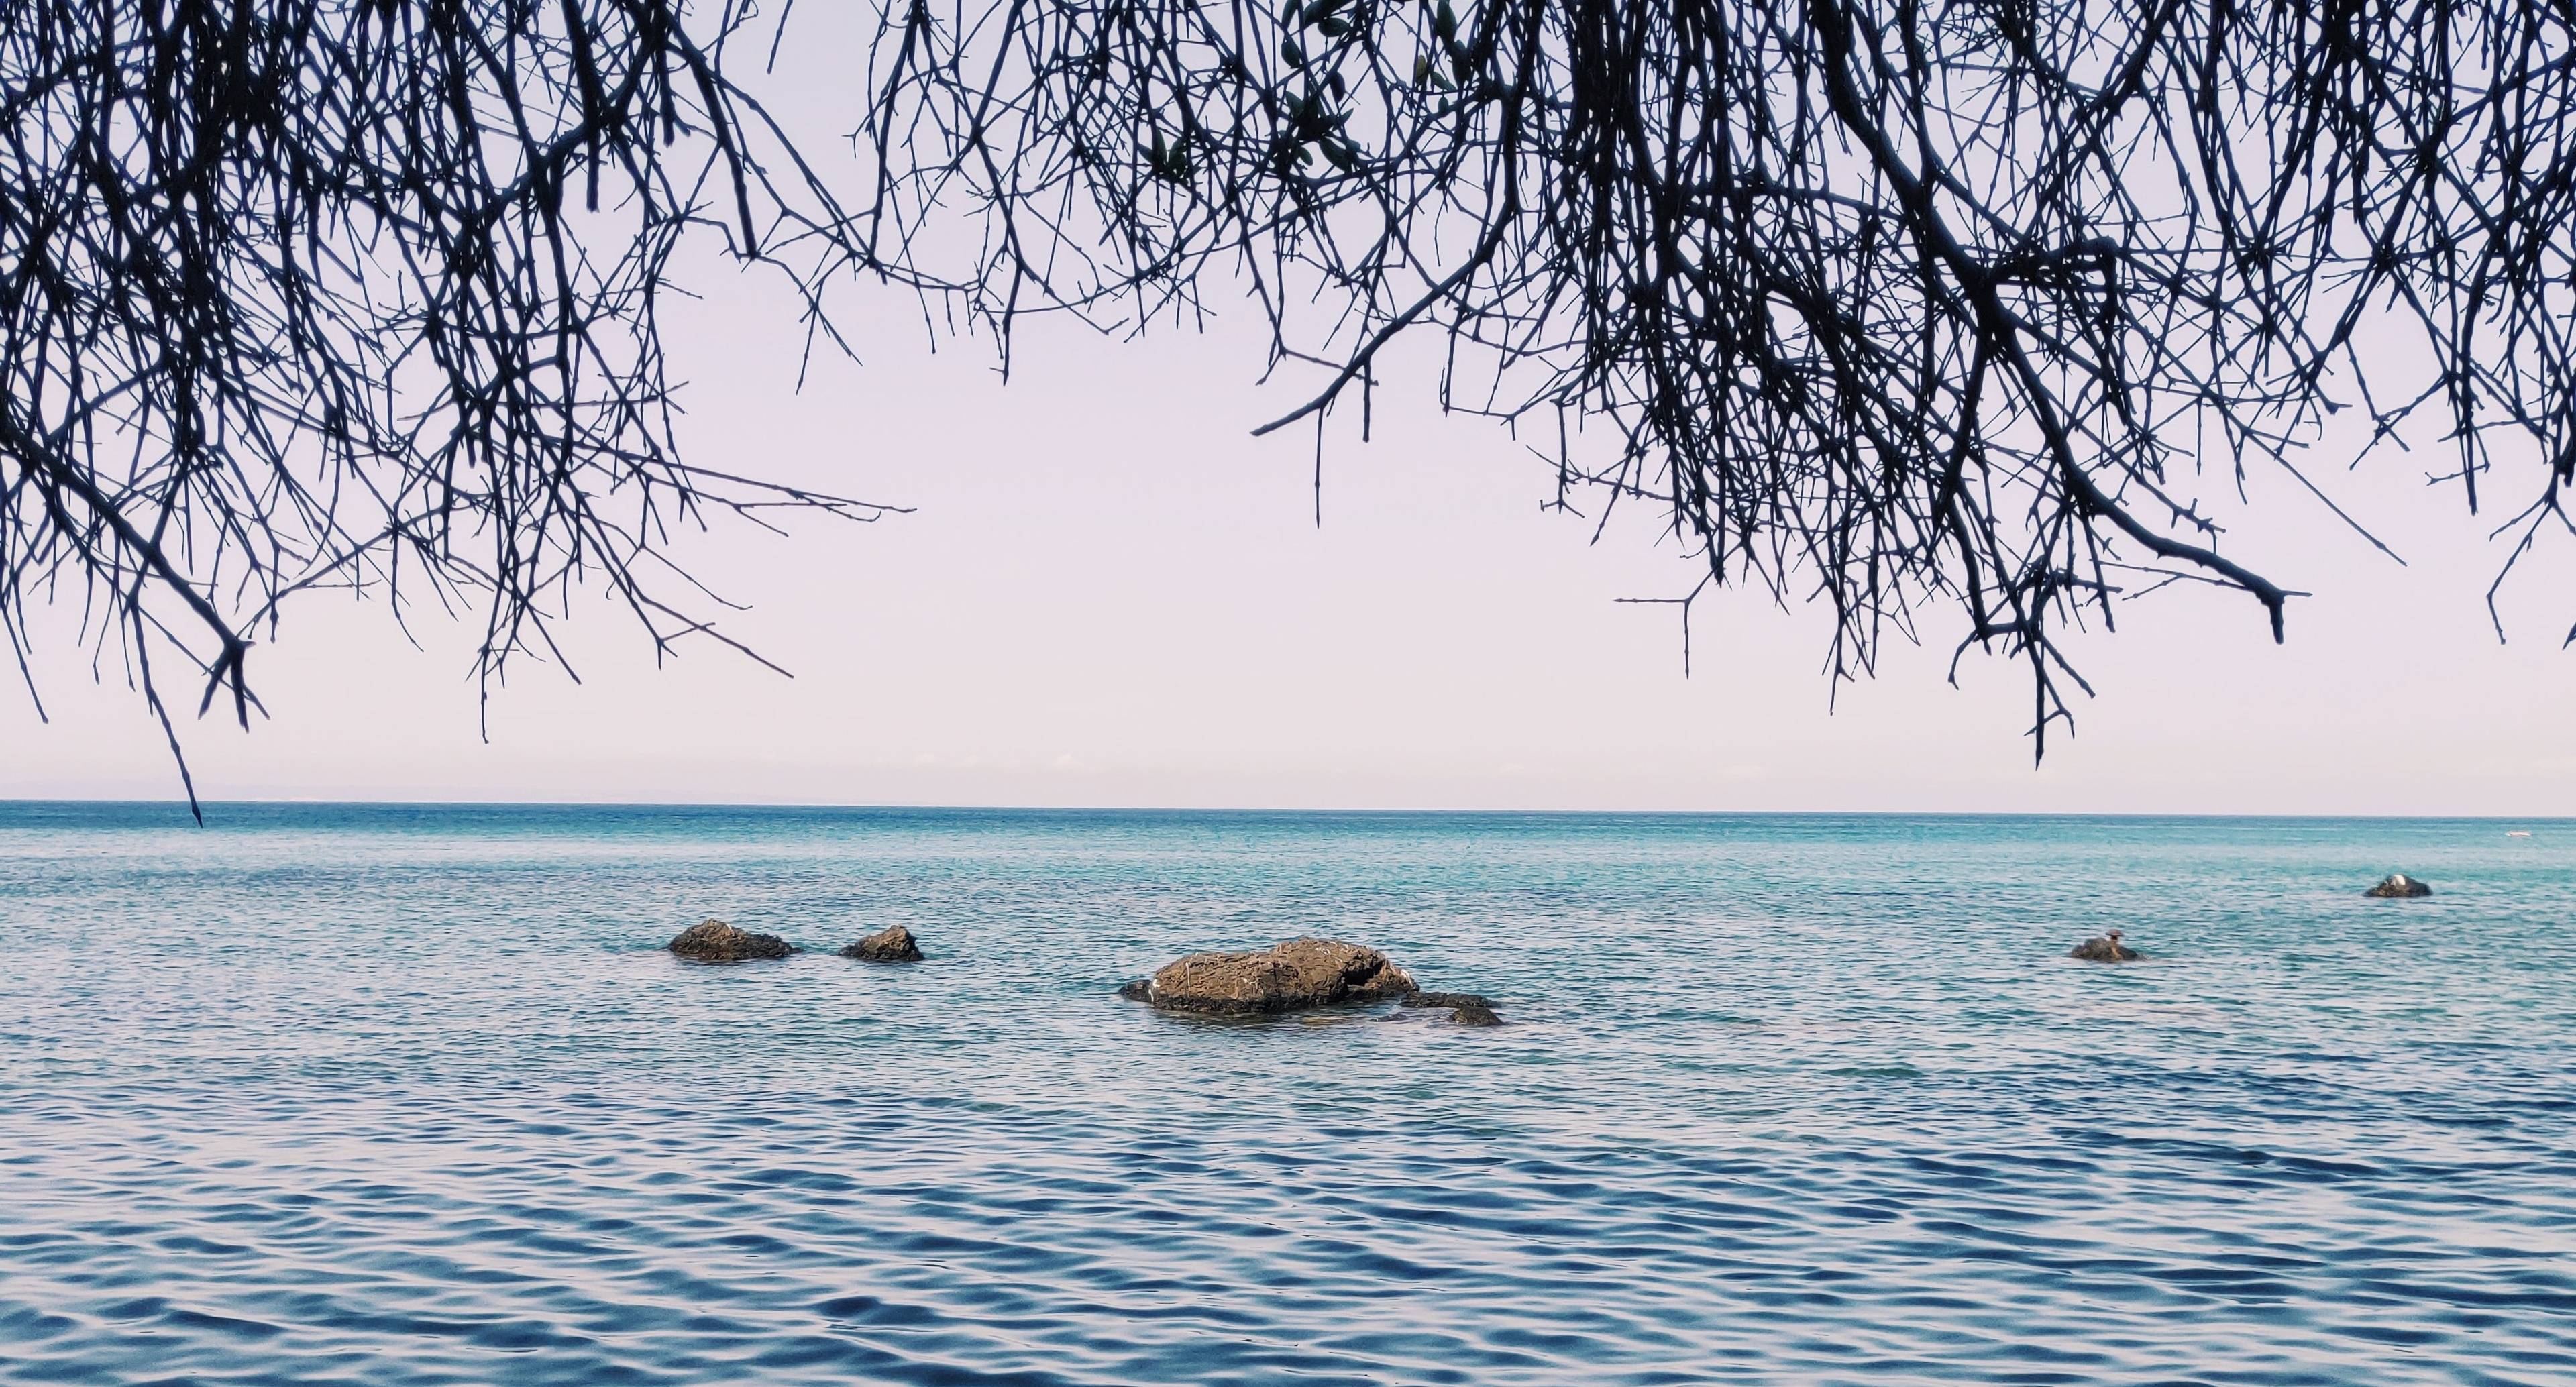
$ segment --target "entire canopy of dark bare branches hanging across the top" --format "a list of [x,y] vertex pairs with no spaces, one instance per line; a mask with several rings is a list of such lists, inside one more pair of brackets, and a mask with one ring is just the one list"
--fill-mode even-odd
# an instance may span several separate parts
[[1826,605],[1837,677],[2007,654],[2043,739],[2128,594],[2280,633],[2192,484],[2334,409],[2504,486],[2506,569],[2571,528],[2576,0],[914,0],[855,142],[768,116],[806,21],[734,3],[0,15],[0,612],[23,664],[85,592],[155,710],[175,651],[247,715],[304,587],[474,602],[489,674],[585,582],[708,630],[675,525],[876,515],[677,455],[688,237],[783,332],[850,275],[1005,342],[1247,291],[1316,378],[1273,427],[1437,342],[1569,510]]

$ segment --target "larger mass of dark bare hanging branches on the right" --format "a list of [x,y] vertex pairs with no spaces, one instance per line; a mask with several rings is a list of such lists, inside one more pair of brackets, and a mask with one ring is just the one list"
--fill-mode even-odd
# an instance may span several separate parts
[[1327,365],[1270,427],[1435,335],[1443,404],[1607,425],[1561,497],[1826,602],[1837,679],[1955,610],[2040,751],[2125,594],[2280,638],[2184,481],[2308,486],[2334,389],[2429,417],[2470,507],[2522,463],[2506,566],[2568,528],[2566,0],[914,0],[871,90],[878,203],[981,216],[987,306],[1249,278]]

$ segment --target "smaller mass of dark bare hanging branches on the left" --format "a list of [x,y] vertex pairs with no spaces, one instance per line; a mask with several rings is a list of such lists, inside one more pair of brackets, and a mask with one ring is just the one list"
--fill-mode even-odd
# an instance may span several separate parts
[[[853,221],[665,0],[0,0],[0,623],[70,584],[247,723],[314,587],[482,607],[484,684],[598,582],[721,636],[675,528],[801,507],[680,461],[675,247],[817,286]],[[31,679],[33,687],[33,679]],[[185,777],[185,762],[180,762]],[[193,803],[193,785],[191,785]]]

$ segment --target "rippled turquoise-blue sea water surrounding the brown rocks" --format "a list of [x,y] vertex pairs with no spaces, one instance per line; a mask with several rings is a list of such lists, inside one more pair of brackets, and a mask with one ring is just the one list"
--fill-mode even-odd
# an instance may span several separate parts
[[[2571,921],[2576,823],[0,805],[0,1377],[2571,1382]],[[1510,1024],[1113,996],[1293,934]]]

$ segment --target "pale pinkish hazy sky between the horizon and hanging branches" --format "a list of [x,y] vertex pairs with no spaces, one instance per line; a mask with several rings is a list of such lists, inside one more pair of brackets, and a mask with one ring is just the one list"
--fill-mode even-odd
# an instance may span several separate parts
[[[464,630],[412,648],[381,605],[317,597],[255,654],[273,718],[185,728],[204,795],[2576,813],[2571,569],[2519,579],[2499,646],[2494,517],[2424,486],[2439,458],[2318,458],[2409,569],[2257,476],[2228,553],[2316,592],[2290,643],[2221,592],[2130,605],[2076,643],[2099,697],[2032,769],[2020,669],[1971,656],[1953,690],[1947,636],[1829,713],[1826,625],[1739,592],[1700,607],[1685,679],[1674,615],[1615,600],[1692,571],[1641,528],[1595,546],[1543,515],[1551,473],[1443,419],[1422,360],[1378,391],[1376,440],[1327,455],[1319,530],[1311,435],[1249,437],[1303,399],[1255,386],[1249,309],[1141,345],[1038,329],[1005,389],[981,342],[930,355],[904,301],[860,299],[868,360],[799,394],[765,280],[696,283],[672,324],[696,458],[914,507],[690,548],[752,605],[729,630],[796,677],[714,646],[654,669],[598,605],[569,628],[585,682],[523,666],[484,741]],[[0,700],[0,798],[173,795],[121,679],[39,656],[54,721]]]

